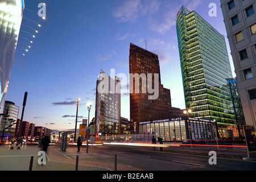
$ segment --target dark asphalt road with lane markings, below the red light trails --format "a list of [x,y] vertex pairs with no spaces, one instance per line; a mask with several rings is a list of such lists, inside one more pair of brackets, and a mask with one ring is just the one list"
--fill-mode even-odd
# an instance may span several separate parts
[[210,156],[171,154],[164,151],[151,151],[145,147],[97,146],[95,152],[113,156],[135,165],[143,165],[147,170],[163,171],[254,171],[256,162],[248,160],[217,158],[217,164],[209,164]]

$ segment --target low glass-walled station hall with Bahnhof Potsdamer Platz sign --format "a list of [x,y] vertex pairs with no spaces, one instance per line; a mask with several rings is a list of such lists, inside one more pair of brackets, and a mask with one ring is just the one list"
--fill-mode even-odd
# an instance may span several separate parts
[[138,122],[137,132],[153,134],[155,138],[163,138],[166,142],[199,138],[214,139],[218,135],[215,121],[191,117]]

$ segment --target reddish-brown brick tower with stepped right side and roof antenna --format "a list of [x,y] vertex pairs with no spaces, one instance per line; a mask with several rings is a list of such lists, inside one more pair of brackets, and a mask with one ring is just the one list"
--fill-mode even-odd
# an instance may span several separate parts
[[[129,72],[131,130],[136,131],[134,123],[177,117],[177,113],[182,113],[178,108],[172,109],[170,89],[161,84],[158,55],[130,43]],[[150,88],[155,89],[154,93]],[[154,95],[158,97],[152,99]]]

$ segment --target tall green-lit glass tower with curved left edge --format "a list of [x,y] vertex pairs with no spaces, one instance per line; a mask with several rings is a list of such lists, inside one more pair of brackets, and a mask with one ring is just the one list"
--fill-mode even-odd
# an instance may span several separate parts
[[225,38],[195,11],[176,19],[185,105],[191,117],[234,123],[226,78],[232,77]]

